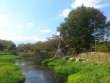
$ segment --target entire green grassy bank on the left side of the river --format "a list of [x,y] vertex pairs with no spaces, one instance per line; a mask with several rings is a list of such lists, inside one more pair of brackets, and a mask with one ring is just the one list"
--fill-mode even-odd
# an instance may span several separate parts
[[0,55],[0,83],[23,83],[24,76],[15,61],[14,55]]

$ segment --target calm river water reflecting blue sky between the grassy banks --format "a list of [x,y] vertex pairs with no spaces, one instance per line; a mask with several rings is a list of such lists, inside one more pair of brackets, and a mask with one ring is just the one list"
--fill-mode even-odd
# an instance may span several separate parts
[[25,75],[25,83],[59,83],[56,76],[48,70],[37,67],[33,60],[17,60]]

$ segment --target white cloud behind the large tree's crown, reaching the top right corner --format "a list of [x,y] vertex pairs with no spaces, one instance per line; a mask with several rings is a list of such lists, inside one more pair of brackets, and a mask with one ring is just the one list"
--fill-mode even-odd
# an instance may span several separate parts
[[72,9],[82,6],[82,4],[86,7],[95,7],[101,9],[110,6],[110,1],[109,0],[73,0],[73,2],[70,4],[70,7],[64,9],[60,16],[67,17]]

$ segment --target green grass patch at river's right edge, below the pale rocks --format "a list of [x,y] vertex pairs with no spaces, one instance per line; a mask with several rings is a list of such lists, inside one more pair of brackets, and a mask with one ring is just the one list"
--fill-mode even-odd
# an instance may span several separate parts
[[43,63],[49,69],[54,70],[57,74],[67,76],[71,73],[77,72],[77,66],[73,66],[74,63],[66,61],[64,59],[49,59]]

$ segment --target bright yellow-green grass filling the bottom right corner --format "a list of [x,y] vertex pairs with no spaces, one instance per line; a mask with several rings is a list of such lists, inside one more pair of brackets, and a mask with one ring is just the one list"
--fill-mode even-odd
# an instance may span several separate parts
[[[85,71],[72,74],[68,77],[67,83],[109,83],[110,65],[93,65],[84,69]],[[106,80],[107,79],[107,80]]]

